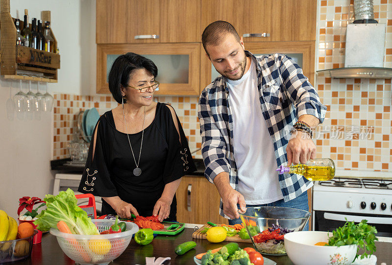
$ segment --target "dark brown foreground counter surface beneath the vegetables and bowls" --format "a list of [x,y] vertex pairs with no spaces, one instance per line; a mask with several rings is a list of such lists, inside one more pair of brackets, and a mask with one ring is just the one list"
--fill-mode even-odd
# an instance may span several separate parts
[[[210,243],[207,240],[192,239],[193,228],[185,228],[180,234],[176,236],[161,236],[158,235],[152,243],[141,246],[132,240],[123,254],[111,264],[146,264],[145,257],[171,257],[171,262],[165,262],[165,265],[190,265],[195,264],[193,258],[198,253],[206,252],[208,249],[214,249],[226,244],[226,241],[221,243]],[[185,241],[196,241],[195,249],[192,249],[182,256],[177,256],[174,253],[174,248]],[[250,243],[239,243],[241,248],[253,247]],[[376,242],[377,264],[382,262],[390,265],[392,263],[392,242]],[[292,265],[287,255],[284,256],[268,256],[270,260],[275,261],[278,265]],[[304,258],[306,254],[304,253]],[[56,237],[50,233],[44,234],[42,242],[33,246],[31,258],[18,262],[17,264],[25,265],[70,265],[74,264],[73,260],[68,258],[61,250],[57,243]]]

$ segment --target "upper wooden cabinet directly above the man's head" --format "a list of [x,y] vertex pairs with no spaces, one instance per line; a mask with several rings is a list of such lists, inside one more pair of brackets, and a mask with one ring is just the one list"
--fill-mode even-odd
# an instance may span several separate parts
[[315,0],[201,0],[202,30],[217,20],[227,21],[238,34],[268,33],[268,37],[244,37],[245,42],[315,41]]

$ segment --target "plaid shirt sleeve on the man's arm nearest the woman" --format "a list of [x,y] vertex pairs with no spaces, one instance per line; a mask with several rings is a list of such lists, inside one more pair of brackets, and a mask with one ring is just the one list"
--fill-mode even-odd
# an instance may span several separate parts
[[[217,90],[216,88],[214,90]],[[229,172],[229,161],[226,158],[226,141],[224,134],[224,119],[214,115],[211,108],[217,107],[217,100],[209,100],[209,90],[203,91],[199,98],[198,118],[200,121],[201,152],[205,164],[205,177],[214,183],[214,178],[221,172]],[[210,106],[210,103],[212,106]],[[223,132],[223,133],[222,133]]]

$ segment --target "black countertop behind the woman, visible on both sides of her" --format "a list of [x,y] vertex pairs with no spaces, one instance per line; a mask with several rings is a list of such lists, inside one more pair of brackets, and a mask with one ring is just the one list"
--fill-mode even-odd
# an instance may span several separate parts
[[[82,164],[70,164],[70,158],[57,159],[50,161],[50,169],[56,170],[59,173],[70,173],[70,174],[82,174],[84,170],[84,165]],[[202,159],[194,159],[196,165],[196,171],[189,173],[192,176],[204,176],[204,162]]]

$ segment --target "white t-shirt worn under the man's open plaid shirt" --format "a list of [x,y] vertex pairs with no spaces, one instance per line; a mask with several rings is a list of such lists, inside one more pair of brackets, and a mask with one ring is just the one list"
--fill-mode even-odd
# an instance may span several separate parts
[[283,199],[275,151],[261,110],[255,63],[239,80],[227,79],[233,117],[234,158],[238,192],[246,204],[266,204]]

